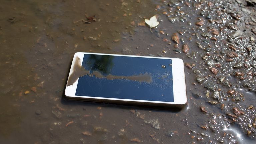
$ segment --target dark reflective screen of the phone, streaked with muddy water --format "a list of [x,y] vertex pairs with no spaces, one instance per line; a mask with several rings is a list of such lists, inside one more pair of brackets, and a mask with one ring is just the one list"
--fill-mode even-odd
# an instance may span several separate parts
[[173,102],[171,59],[84,54],[78,96]]

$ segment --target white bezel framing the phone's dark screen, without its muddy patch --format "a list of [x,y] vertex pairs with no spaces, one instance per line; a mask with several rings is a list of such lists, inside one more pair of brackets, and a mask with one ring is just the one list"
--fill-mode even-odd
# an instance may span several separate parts
[[[104,97],[90,97],[90,96],[78,96],[75,95],[78,80],[73,83],[73,85],[66,86],[65,96],[67,98],[75,99],[105,99],[113,101],[128,101],[128,102],[142,102],[142,103],[158,103],[158,104],[176,104],[184,105],[187,103],[186,95],[186,83],[185,83],[185,73],[184,73],[184,63],[182,59],[179,58],[166,58],[166,57],[150,57],[150,56],[134,56],[134,55],[119,55],[119,54],[103,54],[103,53],[86,53],[86,52],[77,52],[74,55],[69,75],[73,72],[73,67],[76,61],[76,58],[79,57],[81,64],[84,58],[84,54],[95,54],[95,55],[111,55],[111,56],[126,56],[126,57],[143,57],[143,58],[157,58],[157,59],[171,59],[172,60],[172,73],[173,73],[173,96],[174,102],[163,102],[163,101],[148,101],[148,100],[134,100],[134,99],[118,99],[118,98],[104,98]],[[102,101],[104,102],[104,101]]]

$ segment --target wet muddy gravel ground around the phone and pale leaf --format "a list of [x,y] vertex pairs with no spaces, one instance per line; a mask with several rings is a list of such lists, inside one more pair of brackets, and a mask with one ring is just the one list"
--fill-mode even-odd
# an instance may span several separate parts
[[[0,143],[255,143],[255,4],[1,0]],[[65,100],[76,52],[181,58],[188,104]]]

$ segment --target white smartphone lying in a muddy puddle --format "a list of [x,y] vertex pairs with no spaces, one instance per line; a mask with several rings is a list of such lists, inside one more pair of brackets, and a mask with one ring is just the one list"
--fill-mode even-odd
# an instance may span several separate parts
[[183,107],[187,102],[182,59],[118,54],[74,55],[68,99]]

